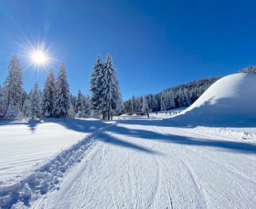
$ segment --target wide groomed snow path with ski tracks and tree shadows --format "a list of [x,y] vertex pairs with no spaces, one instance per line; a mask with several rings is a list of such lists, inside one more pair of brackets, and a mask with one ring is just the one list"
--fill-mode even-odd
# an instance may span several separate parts
[[252,142],[119,120],[33,208],[255,208]]

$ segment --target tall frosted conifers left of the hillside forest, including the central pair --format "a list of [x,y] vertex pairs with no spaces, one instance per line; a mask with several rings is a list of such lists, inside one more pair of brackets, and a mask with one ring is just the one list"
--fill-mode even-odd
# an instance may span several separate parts
[[17,55],[9,62],[8,76],[0,86],[0,118],[73,118],[102,114],[104,119],[122,112],[122,96],[116,69],[110,55],[105,62],[97,57],[90,79],[91,97],[78,91],[70,94],[65,64],[55,79],[50,69],[43,91],[36,81],[33,89],[23,90],[23,72]]

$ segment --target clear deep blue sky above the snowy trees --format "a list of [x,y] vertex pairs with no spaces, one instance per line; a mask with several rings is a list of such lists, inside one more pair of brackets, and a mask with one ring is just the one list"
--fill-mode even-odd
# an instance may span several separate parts
[[[70,91],[89,94],[97,55],[109,52],[124,99],[255,65],[255,1],[0,1],[0,83],[15,52],[24,89],[47,71],[31,64],[44,45]],[[29,65],[30,64],[30,65]]]

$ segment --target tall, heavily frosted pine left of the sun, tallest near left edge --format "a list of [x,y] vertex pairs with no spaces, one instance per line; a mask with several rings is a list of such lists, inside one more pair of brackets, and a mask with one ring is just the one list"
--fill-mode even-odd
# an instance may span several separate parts
[[21,114],[23,98],[23,76],[17,55],[9,62],[9,74],[5,81],[6,113],[4,118],[17,118]]

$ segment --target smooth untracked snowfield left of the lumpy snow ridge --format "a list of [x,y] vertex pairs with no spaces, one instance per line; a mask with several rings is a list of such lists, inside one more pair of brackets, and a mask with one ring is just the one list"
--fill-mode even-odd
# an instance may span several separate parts
[[108,123],[97,119],[0,122],[0,181],[22,176],[54,154]]

